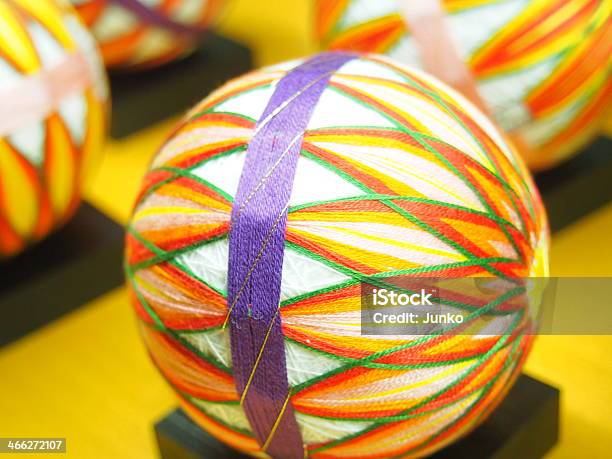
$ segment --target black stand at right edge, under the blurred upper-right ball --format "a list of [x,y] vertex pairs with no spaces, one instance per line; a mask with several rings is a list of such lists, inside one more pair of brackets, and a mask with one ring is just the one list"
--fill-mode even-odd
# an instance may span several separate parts
[[550,227],[558,231],[612,200],[612,139],[600,137],[568,162],[540,173]]

